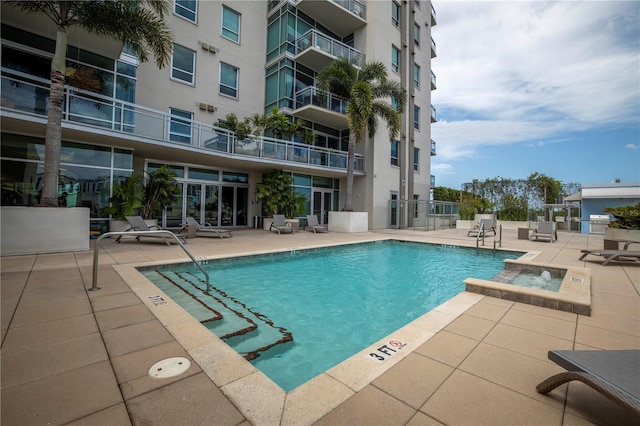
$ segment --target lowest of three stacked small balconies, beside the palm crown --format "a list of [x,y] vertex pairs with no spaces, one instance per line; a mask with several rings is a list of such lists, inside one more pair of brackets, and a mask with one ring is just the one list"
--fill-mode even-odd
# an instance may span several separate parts
[[293,114],[305,120],[323,124],[334,129],[346,129],[347,104],[344,99],[331,93],[318,90],[309,86],[300,90],[295,95],[296,103]]

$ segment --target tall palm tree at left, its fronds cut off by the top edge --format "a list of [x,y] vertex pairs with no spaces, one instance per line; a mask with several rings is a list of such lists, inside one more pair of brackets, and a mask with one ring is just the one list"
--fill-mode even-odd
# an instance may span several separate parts
[[40,204],[58,205],[58,173],[62,135],[62,104],[66,69],[67,35],[73,26],[128,44],[141,62],[149,53],[163,68],[169,63],[173,37],[164,22],[170,11],[167,0],[101,0],[101,1],[6,1],[28,14],[48,17],[57,28],[56,47],[51,61],[49,112],[45,136],[45,159]]

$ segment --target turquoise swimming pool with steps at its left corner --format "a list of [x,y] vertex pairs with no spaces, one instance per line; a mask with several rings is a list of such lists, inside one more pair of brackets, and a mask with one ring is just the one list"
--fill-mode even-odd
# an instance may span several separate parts
[[221,259],[211,295],[192,266],[141,272],[289,391],[520,255],[379,241]]

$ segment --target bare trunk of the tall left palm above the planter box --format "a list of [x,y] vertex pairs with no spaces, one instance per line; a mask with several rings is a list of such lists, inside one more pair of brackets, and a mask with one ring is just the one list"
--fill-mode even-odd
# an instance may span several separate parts
[[62,149],[62,105],[64,103],[65,60],[67,52],[66,28],[58,28],[56,52],[51,61],[51,86],[49,111],[44,147],[44,175],[42,198],[44,206],[58,206],[58,175],[60,173],[60,151]]

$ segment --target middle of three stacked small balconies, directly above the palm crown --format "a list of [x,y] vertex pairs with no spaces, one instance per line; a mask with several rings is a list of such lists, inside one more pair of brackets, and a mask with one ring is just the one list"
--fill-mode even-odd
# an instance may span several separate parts
[[357,67],[366,60],[358,50],[317,30],[309,30],[296,40],[295,60],[307,68],[319,71],[336,58],[345,58]]

